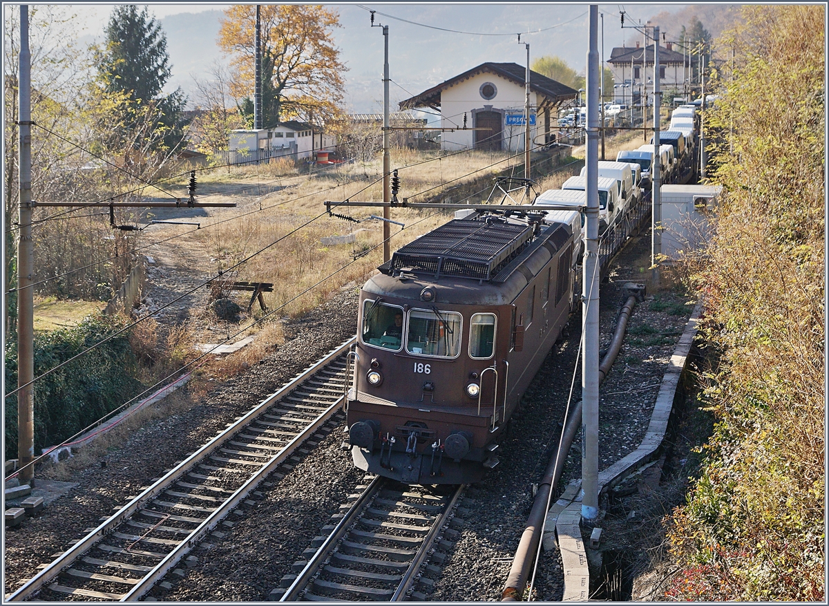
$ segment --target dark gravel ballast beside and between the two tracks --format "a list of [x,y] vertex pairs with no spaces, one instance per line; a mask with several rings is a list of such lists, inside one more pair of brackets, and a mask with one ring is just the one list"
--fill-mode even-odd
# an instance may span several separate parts
[[[650,239],[634,239],[603,284],[600,331],[606,344],[613,331],[619,289],[628,279],[639,279],[647,267]],[[649,274],[649,272],[648,272]],[[207,400],[187,413],[154,422],[135,432],[118,450],[105,457],[106,468],[88,468],[75,474],[79,487],[51,504],[44,514],[7,532],[5,590],[17,589],[36,573],[36,566],[53,560],[56,551],[100,516],[127,501],[138,487],[160,476],[204,444],[235,416],[272,393],[325,351],[356,332],[356,291],[343,293],[308,317],[288,326],[288,341],[244,375],[227,381]],[[638,306],[626,340],[600,397],[600,467],[635,448],[647,427],[658,383],[681,327],[691,312],[676,295],[660,293],[659,300]],[[674,315],[676,314],[676,315]],[[510,438],[502,444],[502,464],[482,482],[468,489],[462,507],[468,521],[457,543],[442,541],[443,570],[422,585],[428,599],[485,600],[500,597],[511,557],[531,507],[531,484],[543,473],[555,440],[577,361],[580,318],[571,318],[570,335],[550,353],[536,381],[527,391],[513,421]],[[674,334],[676,333],[676,335]],[[293,337],[293,338],[290,338]],[[575,378],[578,397],[580,378]],[[192,552],[180,574],[168,574],[150,595],[177,601],[268,599],[270,591],[303,550],[337,513],[347,496],[358,492],[363,473],[342,451],[340,430],[322,439],[293,470],[272,486],[261,487],[242,507],[247,515],[235,521],[221,539],[211,538]],[[578,477],[579,456],[565,468],[565,481]],[[561,594],[558,555],[542,555],[536,579],[538,599]],[[423,589],[423,588],[427,589]]]

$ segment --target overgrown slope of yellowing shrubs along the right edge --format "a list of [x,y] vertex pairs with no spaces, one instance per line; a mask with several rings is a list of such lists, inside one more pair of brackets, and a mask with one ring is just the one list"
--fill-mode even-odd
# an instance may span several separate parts
[[675,511],[667,597],[822,601],[824,11],[742,12],[718,41],[705,117],[727,194],[694,259],[720,351],[705,389],[717,424]]

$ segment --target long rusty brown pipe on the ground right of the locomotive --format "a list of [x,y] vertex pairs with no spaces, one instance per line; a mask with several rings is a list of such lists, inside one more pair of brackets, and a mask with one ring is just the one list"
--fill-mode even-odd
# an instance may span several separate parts
[[[641,294],[640,294],[641,296]],[[602,358],[599,364],[599,383],[604,381],[610,367],[613,366],[613,361],[618,356],[619,349],[622,347],[625,329],[628,327],[628,318],[633,313],[633,307],[636,305],[637,295],[632,294],[625,302],[622,311],[619,313],[618,322],[616,322],[616,330],[613,332],[613,341],[610,343],[607,353]],[[526,579],[530,574],[530,569],[536,561],[535,554],[538,550],[538,544],[541,541],[541,531],[544,526],[544,518],[547,515],[547,507],[550,503],[550,492],[553,490],[560,478],[561,473],[565,467],[567,454],[570,453],[570,447],[573,445],[575,434],[579,430],[581,422],[581,400],[576,402],[570,414],[565,419],[565,427],[562,429],[561,446],[556,452],[544,473],[544,478],[538,486],[536,492],[536,500],[532,504],[530,516],[526,521],[526,528],[521,535],[521,541],[518,543],[515,558],[512,560],[510,574],[507,576],[507,583],[504,585],[504,590],[501,594],[502,602],[516,602],[521,600],[521,594],[524,592]]]

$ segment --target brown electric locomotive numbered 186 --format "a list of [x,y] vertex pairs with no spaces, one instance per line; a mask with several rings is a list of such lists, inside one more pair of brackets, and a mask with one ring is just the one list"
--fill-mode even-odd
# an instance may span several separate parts
[[449,221],[362,288],[347,396],[358,468],[458,484],[497,465],[507,421],[567,322],[579,226],[516,214]]

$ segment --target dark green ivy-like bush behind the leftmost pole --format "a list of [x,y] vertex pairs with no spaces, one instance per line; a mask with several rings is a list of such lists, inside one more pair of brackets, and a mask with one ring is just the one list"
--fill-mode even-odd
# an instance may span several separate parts
[[[36,334],[35,376],[123,327],[122,320],[95,315],[76,327]],[[143,389],[135,378],[128,336],[129,331],[123,332],[35,382],[35,453],[60,444]],[[7,348],[5,372],[7,390],[12,390],[17,386],[16,343]],[[6,398],[6,457],[17,458],[16,395]]]

